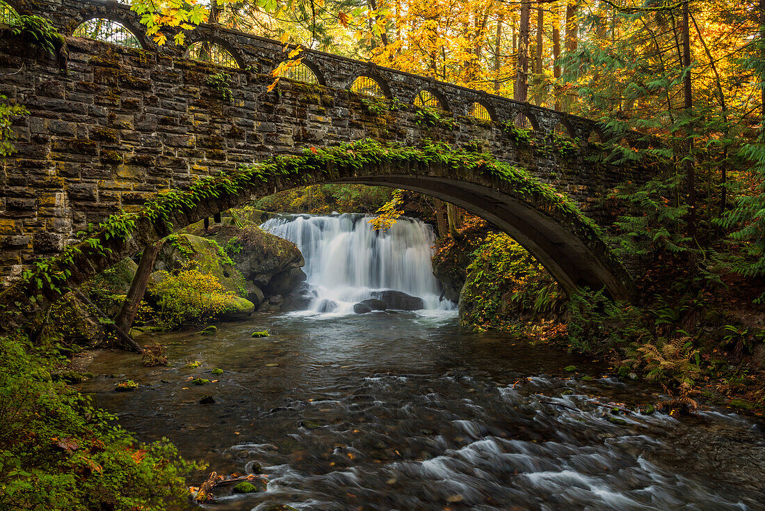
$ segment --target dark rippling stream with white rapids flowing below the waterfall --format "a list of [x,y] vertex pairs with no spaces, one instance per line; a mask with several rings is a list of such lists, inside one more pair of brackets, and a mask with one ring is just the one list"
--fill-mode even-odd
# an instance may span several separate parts
[[[454,313],[260,315],[145,340],[168,346],[173,367],[106,353],[90,370],[140,388],[99,377],[86,390],[143,440],[166,436],[218,473],[269,475],[265,493],[210,509],[765,509],[760,425],[727,411],[614,415],[608,401],[634,408],[656,389],[461,332]],[[189,385],[196,375],[217,382]],[[216,402],[200,405],[205,394]]]

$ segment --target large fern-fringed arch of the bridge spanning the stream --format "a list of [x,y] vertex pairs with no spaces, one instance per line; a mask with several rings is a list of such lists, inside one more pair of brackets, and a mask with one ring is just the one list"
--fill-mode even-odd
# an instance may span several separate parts
[[[110,217],[101,231],[47,261],[0,293],[11,318],[2,329],[27,324],[63,290],[79,286],[123,257],[178,229],[274,192],[321,182],[353,182],[422,192],[487,219],[544,265],[568,292],[604,288],[629,300],[633,284],[601,231],[564,196],[512,165],[447,146],[393,149],[369,142],[278,156],[228,175],[207,178],[184,192],[161,195],[140,213]],[[39,298],[37,298],[39,296]],[[30,297],[35,297],[30,300]],[[0,322],[2,323],[2,322]]]

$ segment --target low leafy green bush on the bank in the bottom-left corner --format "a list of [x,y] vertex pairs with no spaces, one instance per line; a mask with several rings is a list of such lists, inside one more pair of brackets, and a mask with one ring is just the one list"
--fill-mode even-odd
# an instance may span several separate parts
[[197,467],[168,441],[139,444],[90,398],[50,381],[25,339],[0,339],[0,509],[159,511]]

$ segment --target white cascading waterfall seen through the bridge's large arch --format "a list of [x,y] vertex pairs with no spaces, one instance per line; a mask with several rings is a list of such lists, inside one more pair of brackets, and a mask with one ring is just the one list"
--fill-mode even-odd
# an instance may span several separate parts
[[453,310],[440,300],[441,284],[433,277],[430,225],[400,218],[387,231],[376,231],[368,215],[283,215],[261,228],[297,245],[315,312],[351,313],[353,304],[382,290],[422,298],[425,310]]

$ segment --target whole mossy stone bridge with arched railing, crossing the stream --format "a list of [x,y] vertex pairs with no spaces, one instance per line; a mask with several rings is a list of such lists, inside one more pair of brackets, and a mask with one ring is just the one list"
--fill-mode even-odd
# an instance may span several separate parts
[[[581,117],[320,51],[303,53],[307,81],[314,83],[298,76],[269,91],[272,70],[286,59],[278,41],[200,25],[189,34],[190,46],[159,47],[145,38],[125,5],[10,3],[22,14],[50,18],[66,45],[54,57],[7,30],[0,38],[0,93],[29,110],[15,122],[17,152],[2,161],[0,272],[6,283],[31,261],[60,254],[90,223],[141,211],[161,192],[187,189],[204,176],[231,175],[242,165],[312,147],[361,139],[418,147],[435,140],[487,152],[525,169],[530,180],[552,185],[596,223],[604,192],[640,179],[639,169],[594,162],[598,150],[590,141],[600,132]],[[134,47],[73,37],[93,18],[119,22]],[[199,42],[230,57],[226,66],[192,58],[199,58],[191,52]],[[210,80],[222,73],[228,75],[222,83]],[[379,97],[357,87],[360,77]],[[418,106],[422,97],[437,108]],[[519,124],[531,133],[517,129]],[[507,231],[567,290],[588,284],[620,298],[630,295],[630,279],[604,241],[583,239],[571,218],[552,215],[517,189],[517,182],[509,188],[469,169],[428,164],[307,171],[302,179],[260,183],[239,200],[182,216],[191,221],[201,212],[305,182],[395,186],[451,201]],[[140,244],[132,250],[140,251]]]

